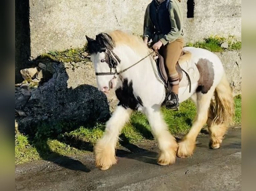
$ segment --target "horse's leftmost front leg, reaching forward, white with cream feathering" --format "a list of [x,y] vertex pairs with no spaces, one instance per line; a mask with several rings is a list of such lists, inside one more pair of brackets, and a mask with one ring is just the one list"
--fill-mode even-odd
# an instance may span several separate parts
[[131,113],[131,109],[120,105],[107,121],[102,138],[94,146],[95,165],[101,170],[107,170],[112,164],[116,164],[115,147],[118,136]]

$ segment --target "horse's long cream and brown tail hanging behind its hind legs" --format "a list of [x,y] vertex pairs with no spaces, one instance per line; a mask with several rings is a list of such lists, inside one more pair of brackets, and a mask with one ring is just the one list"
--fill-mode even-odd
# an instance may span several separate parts
[[235,115],[235,104],[226,75],[222,77],[221,82],[215,89],[215,99],[211,101],[210,112],[212,113],[212,125],[230,125],[233,124]]

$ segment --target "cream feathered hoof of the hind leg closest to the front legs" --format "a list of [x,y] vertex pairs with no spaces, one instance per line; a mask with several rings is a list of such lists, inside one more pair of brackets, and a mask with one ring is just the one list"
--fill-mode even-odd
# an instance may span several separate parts
[[188,140],[183,140],[178,143],[179,147],[177,150],[177,157],[185,158],[192,156],[196,147],[195,143],[192,143]]

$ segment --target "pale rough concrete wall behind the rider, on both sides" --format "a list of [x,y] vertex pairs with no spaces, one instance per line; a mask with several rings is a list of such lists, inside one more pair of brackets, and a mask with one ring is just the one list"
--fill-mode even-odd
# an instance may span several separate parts
[[[191,2],[191,0],[188,0]],[[82,47],[85,35],[121,29],[143,33],[143,17],[151,0],[29,0],[31,59],[50,50]],[[194,18],[184,7],[186,42],[211,34],[241,39],[241,0],[195,0]]]

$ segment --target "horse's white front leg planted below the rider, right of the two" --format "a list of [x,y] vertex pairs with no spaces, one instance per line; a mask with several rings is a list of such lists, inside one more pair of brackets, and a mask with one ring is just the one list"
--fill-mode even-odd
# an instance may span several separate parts
[[145,109],[145,114],[160,149],[157,163],[159,165],[173,164],[176,159],[178,145],[161,116],[160,106],[155,109]]

